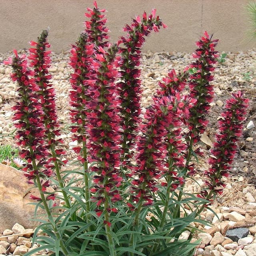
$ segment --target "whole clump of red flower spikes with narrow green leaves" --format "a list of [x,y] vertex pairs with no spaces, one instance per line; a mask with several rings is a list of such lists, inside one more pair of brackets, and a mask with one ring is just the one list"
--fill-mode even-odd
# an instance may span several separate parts
[[[14,58],[5,61],[18,84],[14,120],[20,157],[27,162],[23,170],[40,192],[32,196],[37,208],[47,214],[33,238],[41,246],[26,256],[45,248],[56,256],[192,255],[197,243],[180,235],[195,229],[192,222],[204,223],[200,212],[222,192],[221,178],[230,168],[248,100],[238,92],[227,101],[206,185],[198,195],[185,195],[184,184],[196,172],[192,160],[200,154],[194,146],[208,124],[218,40],[205,32],[196,43],[194,62],[180,73],[169,72],[142,115],[141,47],[150,32],[166,25],[155,9],[144,12],[124,27],[126,36],[110,44],[104,12],[96,2],[87,8],[86,29],[71,49],[76,171],[62,171],[66,161],[48,72],[48,31],[30,42],[28,57],[14,51]],[[82,177],[81,186],[70,178],[74,173]]]

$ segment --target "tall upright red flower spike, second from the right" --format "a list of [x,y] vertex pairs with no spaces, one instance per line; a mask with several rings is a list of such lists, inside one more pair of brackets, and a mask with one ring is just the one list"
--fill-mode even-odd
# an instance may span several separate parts
[[213,98],[213,86],[210,82],[213,80],[213,64],[216,63],[217,52],[214,50],[218,40],[212,40],[207,32],[196,42],[196,49],[193,57],[196,61],[190,65],[190,68],[196,69],[194,74],[189,77],[190,97],[197,100],[193,108],[190,108],[190,118],[188,127],[194,142],[198,141],[199,134],[204,133],[208,121],[205,114],[210,109],[210,102]]

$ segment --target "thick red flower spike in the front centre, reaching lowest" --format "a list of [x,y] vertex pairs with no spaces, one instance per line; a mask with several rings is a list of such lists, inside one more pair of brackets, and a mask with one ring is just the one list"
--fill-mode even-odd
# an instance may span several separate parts
[[[117,46],[110,46],[108,51],[96,54],[98,68],[94,64],[96,81],[88,88],[88,95],[92,99],[88,105],[88,132],[90,144],[89,161],[95,161],[91,170],[94,176],[93,199],[99,207],[105,202],[106,196],[112,202],[120,200],[121,174],[120,166],[120,117],[118,116],[119,102],[116,95],[114,81],[118,76],[116,67]],[[104,207],[106,208],[106,207]],[[111,206],[108,206],[111,209]]]

